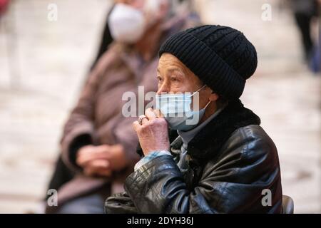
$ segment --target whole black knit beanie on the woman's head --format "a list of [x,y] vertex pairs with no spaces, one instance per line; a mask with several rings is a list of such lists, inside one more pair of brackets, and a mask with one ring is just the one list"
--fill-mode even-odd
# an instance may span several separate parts
[[227,26],[198,26],[170,36],[159,56],[171,53],[215,93],[228,100],[242,95],[258,65],[255,47]]

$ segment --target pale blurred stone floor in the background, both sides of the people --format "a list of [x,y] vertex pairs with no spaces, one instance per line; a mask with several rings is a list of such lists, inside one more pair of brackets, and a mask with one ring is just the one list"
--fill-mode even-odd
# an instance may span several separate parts
[[[58,6],[49,21],[48,5]],[[106,0],[14,0],[0,18],[0,213],[41,209],[61,129],[96,55]],[[241,100],[274,140],[283,194],[295,212],[321,212],[320,76],[303,65],[300,38],[277,0],[195,1],[205,23],[233,26],[258,50]],[[263,21],[263,4],[272,20]]]

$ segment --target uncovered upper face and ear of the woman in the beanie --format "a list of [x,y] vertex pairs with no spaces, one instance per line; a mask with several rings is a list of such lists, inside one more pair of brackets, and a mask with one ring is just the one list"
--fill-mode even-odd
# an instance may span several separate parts
[[[158,91],[161,93],[193,93],[203,86],[200,79],[178,58],[170,53],[163,53],[157,68]],[[209,101],[212,90],[205,86],[199,91],[199,104],[203,108]]]

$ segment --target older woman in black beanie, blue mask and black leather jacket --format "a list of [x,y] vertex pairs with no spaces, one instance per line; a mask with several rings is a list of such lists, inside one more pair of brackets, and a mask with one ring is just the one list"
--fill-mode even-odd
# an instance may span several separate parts
[[280,213],[277,149],[238,99],[257,67],[253,44],[200,26],[168,38],[159,56],[157,109],[133,123],[145,156],[106,212]]

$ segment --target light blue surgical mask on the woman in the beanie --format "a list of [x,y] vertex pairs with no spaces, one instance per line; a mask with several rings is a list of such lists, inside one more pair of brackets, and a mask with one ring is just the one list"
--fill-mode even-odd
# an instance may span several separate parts
[[210,101],[200,110],[191,110],[190,105],[193,95],[204,87],[192,95],[184,93],[156,95],[156,108],[161,110],[171,129],[188,131],[198,125]]

